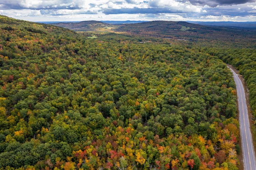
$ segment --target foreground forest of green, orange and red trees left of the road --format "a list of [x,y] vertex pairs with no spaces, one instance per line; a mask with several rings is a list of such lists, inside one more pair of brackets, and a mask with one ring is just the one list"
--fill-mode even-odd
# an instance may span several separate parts
[[0,17],[0,169],[238,169],[221,60]]

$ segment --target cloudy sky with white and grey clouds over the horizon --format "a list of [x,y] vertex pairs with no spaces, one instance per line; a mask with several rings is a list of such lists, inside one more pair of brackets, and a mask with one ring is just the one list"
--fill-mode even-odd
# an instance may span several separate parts
[[0,14],[29,21],[256,21],[256,0],[0,0]]

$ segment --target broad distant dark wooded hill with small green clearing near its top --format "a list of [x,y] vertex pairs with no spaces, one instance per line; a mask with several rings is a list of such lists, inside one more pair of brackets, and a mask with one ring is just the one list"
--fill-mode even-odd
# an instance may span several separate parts
[[146,35],[180,40],[189,40],[199,44],[211,45],[255,45],[256,34],[253,31],[202,26],[184,21],[152,21],[129,24],[116,31],[126,31],[131,35]]

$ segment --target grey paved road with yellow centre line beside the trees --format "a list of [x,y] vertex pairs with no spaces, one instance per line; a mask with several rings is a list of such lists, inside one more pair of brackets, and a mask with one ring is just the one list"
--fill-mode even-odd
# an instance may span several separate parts
[[240,123],[242,151],[243,151],[243,158],[244,158],[244,169],[256,170],[253,140],[252,140],[252,134],[250,130],[250,122],[248,118],[244,87],[238,75],[232,69],[231,71],[233,72],[233,77],[237,85],[239,123]]

